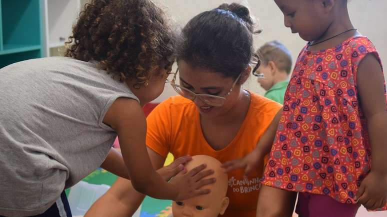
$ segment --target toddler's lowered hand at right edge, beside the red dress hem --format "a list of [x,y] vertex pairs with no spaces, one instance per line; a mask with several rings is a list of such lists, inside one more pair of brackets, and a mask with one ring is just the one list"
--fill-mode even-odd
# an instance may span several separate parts
[[371,170],[361,182],[354,200],[368,210],[384,207],[387,203],[387,173]]

